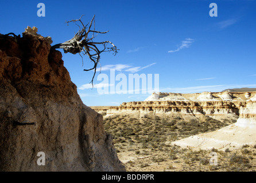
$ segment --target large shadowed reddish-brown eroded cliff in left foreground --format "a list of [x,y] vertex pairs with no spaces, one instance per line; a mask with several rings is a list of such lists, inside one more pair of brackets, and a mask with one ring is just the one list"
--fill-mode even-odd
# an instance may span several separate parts
[[125,170],[51,43],[29,30],[0,36],[0,171]]

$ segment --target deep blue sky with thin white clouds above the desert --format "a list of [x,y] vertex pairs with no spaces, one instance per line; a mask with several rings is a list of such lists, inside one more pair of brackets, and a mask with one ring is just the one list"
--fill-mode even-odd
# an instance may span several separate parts
[[[37,16],[40,2],[45,4],[45,17]],[[210,3],[218,5],[218,17],[210,17]],[[99,74],[110,78],[110,69],[127,78],[135,73],[159,74],[160,92],[256,87],[255,7],[256,1],[245,0],[8,1],[0,6],[0,33],[21,34],[25,27],[36,26],[38,34],[52,37],[55,45],[79,30],[65,21],[84,14],[82,21],[88,23],[95,15],[96,30],[109,30],[96,41],[111,41],[119,52],[102,53],[102,71],[97,71],[93,89],[88,85],[93,72],[83,71],[92,66],[87,56],[82,66],[79,55],[59,50],[84,104],[120,105],[143,101],[150,94],[100,94]]]

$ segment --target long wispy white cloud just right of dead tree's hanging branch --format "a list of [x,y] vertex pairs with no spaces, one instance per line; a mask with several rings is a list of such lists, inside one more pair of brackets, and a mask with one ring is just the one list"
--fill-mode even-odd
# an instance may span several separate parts
[[106,71],[106,70],[110,70],[110,69],[114,69],[115,71],[126,71],[126,72],[130,72],[130,73],[136,73],[142,69],[146,69],[152,65],[156,64],[156,62],[154,63],[150,63],[149,65],[146,66],[131,66],[131,65],[127,65],[127,64],[116,64],[116,65],[104,65],[101,67],[100,69],[97,69],[97,71]]

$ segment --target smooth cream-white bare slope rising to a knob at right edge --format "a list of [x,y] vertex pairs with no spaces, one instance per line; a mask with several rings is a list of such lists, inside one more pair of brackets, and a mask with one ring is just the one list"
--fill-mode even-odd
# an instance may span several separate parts
[[214,132],[197,134],[168,144],[195,149],[236,149],[243,145],[256,144],[256,101],[247,101],[241,106],[238,120]]

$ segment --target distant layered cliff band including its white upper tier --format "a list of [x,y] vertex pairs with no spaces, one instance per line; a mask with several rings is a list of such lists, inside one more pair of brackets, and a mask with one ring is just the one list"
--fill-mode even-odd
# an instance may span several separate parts
[[240,111],[250,105],[248,101],[253,101],[255,95],[256,92],[153,93],[145,101],[123,102],[120,106],[94,107],[94,109],[102,110],[101,112],[108,115],[125,112],[180,113],[193,116],[207,115],[218,120],[233,116],[236,120]]

